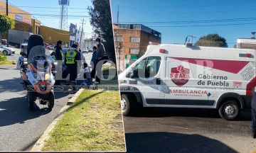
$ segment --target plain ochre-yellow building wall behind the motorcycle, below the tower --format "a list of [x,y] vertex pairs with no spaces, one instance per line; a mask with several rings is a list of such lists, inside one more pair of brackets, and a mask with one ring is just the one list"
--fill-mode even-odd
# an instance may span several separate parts
[[40,26],[40,35],[42,35],[43,40],[46,43],[56,44],[58,40],[62,40],[63,43],[70,42],[70,32],[66,30]]

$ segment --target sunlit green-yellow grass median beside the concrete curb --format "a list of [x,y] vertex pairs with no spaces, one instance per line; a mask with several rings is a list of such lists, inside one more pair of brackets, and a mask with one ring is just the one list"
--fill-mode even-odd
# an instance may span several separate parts
[[119,91],[82,91],[43,151],[125,151]]

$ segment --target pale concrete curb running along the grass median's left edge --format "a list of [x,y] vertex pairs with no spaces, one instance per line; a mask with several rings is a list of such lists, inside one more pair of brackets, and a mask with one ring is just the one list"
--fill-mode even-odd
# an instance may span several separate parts
[[30,150],[31,152],[41,152],[43,146],[46,143],[45,141],[50,138],[50,132],[52,132],[55,128],[55,125],[57,124],[58,120],[60,120],[60,118],[63,117],[65,111],[68,111],[68,108],[70,108],[69,105],[75,102],[76,98],[78,98],[78,96],[82,93],[83,90],[84,89],[80,89],[72,98],[70,98],[70,100],[68,101],[68,106],[63,106],[63,108],[61,108],[57,117],[53,120],[52,123],[50,123],[48,128],[46,128],[45,132],[43,132],[43,135],[41,135],[41,137],[37,140],[36,144],[32,147],[32,149]]

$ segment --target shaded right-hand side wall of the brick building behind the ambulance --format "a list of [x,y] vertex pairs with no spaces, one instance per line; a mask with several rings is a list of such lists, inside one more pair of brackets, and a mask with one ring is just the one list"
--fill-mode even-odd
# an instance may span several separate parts
[[161,43],[161,38],[150,33],[141,31],[140,45],[139,45],[139,56],[142,56],[146,52],[146,47],[149,45],[149,42],[159,42]]

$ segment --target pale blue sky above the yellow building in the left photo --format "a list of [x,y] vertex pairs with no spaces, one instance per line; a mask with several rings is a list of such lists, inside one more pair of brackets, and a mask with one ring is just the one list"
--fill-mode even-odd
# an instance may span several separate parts
[[[31,13],[41,21],[42,26],[59,29],[60,6],[58,0],[9,0],[9,3],[14,4],[23,11]],[[82,27],[82,19],[85,18],[83,26],[85,38],[89,38],[93,32],[92,26],[90,26],[89,13],[87,13],[88,6],[92,6],[92,1],[70,0],[70,5],[68,6],[68,27],[70,26],[70,23],[73,23],[77,24],[79,29],[79,26]]]

